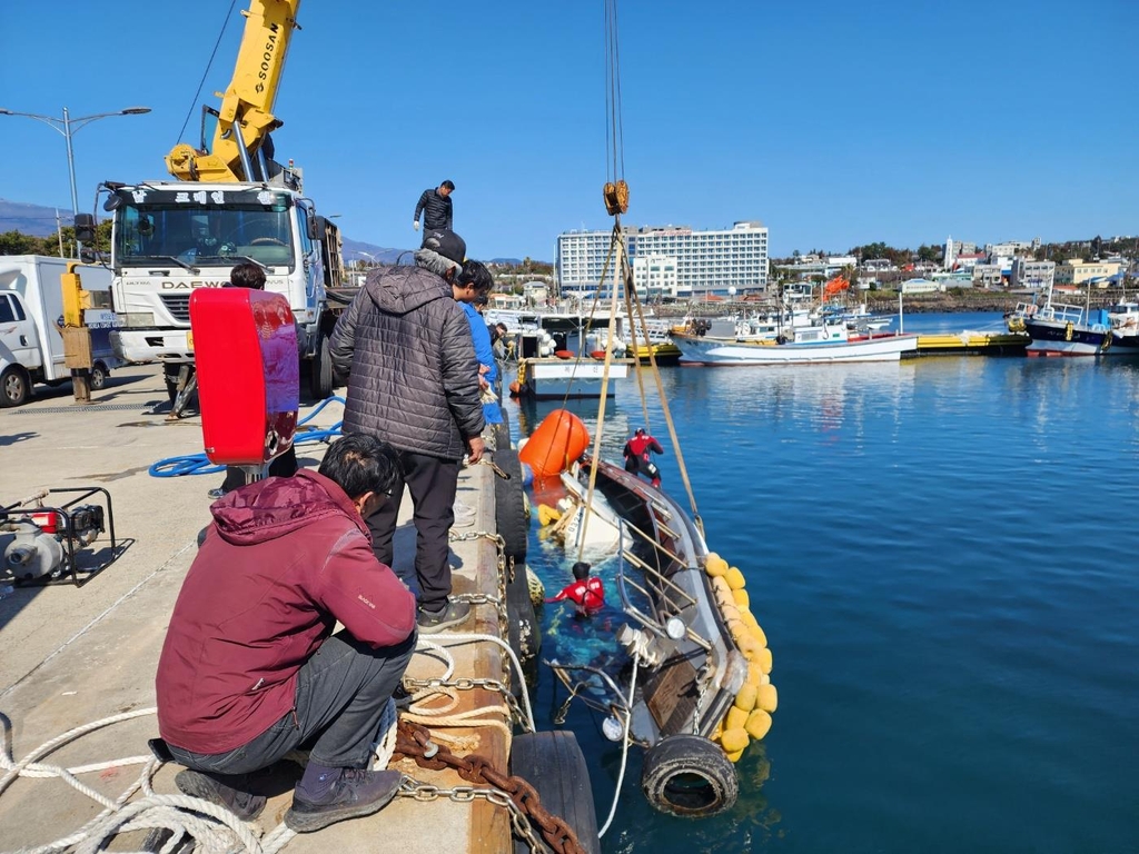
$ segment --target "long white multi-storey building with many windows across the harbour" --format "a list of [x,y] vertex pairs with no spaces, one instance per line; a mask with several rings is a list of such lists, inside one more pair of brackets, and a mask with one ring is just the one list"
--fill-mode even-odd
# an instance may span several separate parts
[[[688,227],[625,229],[633,263],[638,257],[675,262],[675,291],[694,298],[765,290],[768,286],[768,229],[761,222],[737,222],[730,229],[695,231]],[[558,235],[556,271],[562,293],[593,291],[609,254],[609,231],[565,231]],[[646,268],[647,270],[647,268]],[[665,271],[659,271],[662,276]],[[606,285],[613,281],[611,272]],[[683,297],[681,297],[683,298]]]

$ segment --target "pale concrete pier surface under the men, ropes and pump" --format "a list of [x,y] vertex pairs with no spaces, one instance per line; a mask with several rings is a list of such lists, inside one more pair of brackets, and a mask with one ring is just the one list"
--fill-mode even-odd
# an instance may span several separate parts
[[[30,752],[73,728],[110,715],[154,706],[154,676],[166,621],[186,570],[196,553],[198,532],[208,524],[207,490],[222,475],[156,478],[148,467],[158,459],[202,450],[200,420],[189,417],[166,422],[169,410],[157,367],[115,371],[95,402],[73,403],[71,389],[36,389],[38,399],[17,410],[0,410],[0,506],[11,504],[44,487],[103,486],[113,499],[115,533],[125,548],[107,569],[81,588],[71,584],[23,586],[0,599],[0,713],[9,722],[9,744],[18,762]],[[302,410],[302,418],[311,408]],[[316,426],[339,420],[342,410],[327,407]],[[302,466],[316,467],[320,443],[301,444]],[[494,533],[492,470],[466,469],[458,500],[474,510],[474,522],[452,529],[456,593],[498,597],[498,551]],[[396,532],[396,570],[410,573],[415,528],[405,496]],[[81,565],[106,549],[100,539],[84,550]],[[493,602],[474,606],[473,617],[456,631],[500,635]],[[451,632],[427,640],[450,647],[452,679],[503,680],[502,658],[487,642],[454,646]],[[429,680],[442,675],[440,662],[417,655],[408,675]],[[483,709],[478,718],[501,725],[448,726],[439,731],[458,737],[456,753],[468,750],[503,773],[509,753],[510,722],[503,697],[485,685],[454,691],[451,715]],[[433,730],[436,728],[433,726]],[[153,715],[97,730],[63,746],[42,762],[75,766],[147,754],[146,741],[157,736]],[[441,744],[448,744],[441,741]],[[453,771],[429,771],[410,761],[394,764],[418,781],[441,789],[468,786]],[[155,790],[174,794],[178,766],[164,766]],[[81,780],[108,798],[117,797],[138,777],[141,765],[118,765]],[[297,772],[298,773],[298,772]],[[0,777],[3,775],[0,770]],[[478,788],[477,786],[475,788]],[[257,820],[255,834],[279,824],[292,802],[289,780]],[[431,790],[421,793],[431,795]],[[95,800],[55,779],[18,779],[0,793],[0,849],[35,847],[77,831],[101,810]],[[141,832],[123,835],[118,849],[138,849]],[[377,815],[334,824],[297,836],[289,852],[372,852],[435,854],[510,851],[507,811],[485,798],[452,800],[443,795],[418,800],[398,797]]]

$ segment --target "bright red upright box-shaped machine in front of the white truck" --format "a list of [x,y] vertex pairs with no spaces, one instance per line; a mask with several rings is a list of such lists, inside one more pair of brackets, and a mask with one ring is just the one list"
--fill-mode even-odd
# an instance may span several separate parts
[[260,467],[288,450],[301,403],[288,301],[248,288],[198,288],[190,329],[210,460]]

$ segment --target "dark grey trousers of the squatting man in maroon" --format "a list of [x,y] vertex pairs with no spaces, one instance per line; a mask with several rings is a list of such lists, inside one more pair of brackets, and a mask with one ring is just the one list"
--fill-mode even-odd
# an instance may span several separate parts
[[311,748],[309,758],[321,765],[366,767],[384,708],[415,649],[415,633],[399,646],[372,649],[337,632],[301,667],[294,711],[255,739],[229,753],[173,745],[170,752],[187,767],[218,774],[259,771],[301,747]]

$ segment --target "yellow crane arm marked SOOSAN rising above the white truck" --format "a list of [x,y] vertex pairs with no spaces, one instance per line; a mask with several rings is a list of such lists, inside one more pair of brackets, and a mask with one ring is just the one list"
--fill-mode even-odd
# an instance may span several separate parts
[[301,0],[253,0],[233,79],[218,112],[213,148],[199,151],[180,142],[166,155],[166,169],[180,181],[252,181],[247,164],[270,131],[281,125],[273,101],[285,71]]

